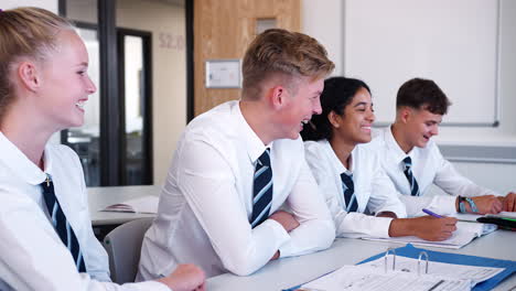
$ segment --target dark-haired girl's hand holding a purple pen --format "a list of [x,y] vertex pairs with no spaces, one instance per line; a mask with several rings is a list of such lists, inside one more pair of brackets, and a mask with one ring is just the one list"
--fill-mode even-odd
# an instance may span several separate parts
[[456,230],[454,217],[437,218],[428,215],[411,219],[415,223],[415,235],[426,240],[444,240]]

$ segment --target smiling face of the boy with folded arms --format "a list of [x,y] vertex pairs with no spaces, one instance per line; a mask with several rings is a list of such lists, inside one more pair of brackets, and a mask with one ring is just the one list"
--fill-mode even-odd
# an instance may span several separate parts
[[[320,96],[324,88],[324,80],[310,80],[301,77],[295,91],[284,90],[283,109],[280,112],[280,132],[278,138],[298,139],[303,126],[312,118],[312,115],[320,115]],[[291,93],[295,93],[292,95]]]

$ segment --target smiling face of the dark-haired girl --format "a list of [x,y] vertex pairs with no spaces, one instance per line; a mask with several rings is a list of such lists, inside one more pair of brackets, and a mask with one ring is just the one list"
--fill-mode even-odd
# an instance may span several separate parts
[[351,146],[369,142],[370,127],[375,121],[370,94],[364,87],[353,96],[342,116],[331,111],[327,116],[333,127],[332,139]]

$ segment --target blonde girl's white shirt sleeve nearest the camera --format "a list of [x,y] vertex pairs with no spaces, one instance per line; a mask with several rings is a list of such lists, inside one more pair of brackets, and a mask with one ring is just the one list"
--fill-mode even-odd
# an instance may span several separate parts
[[2,197],[0,212],[0,281],[13,290],[169,290],[158,282],[118,285],[78,273],[72,255],[37,205],[26,196],[10,194],[14,194],[12,198]]

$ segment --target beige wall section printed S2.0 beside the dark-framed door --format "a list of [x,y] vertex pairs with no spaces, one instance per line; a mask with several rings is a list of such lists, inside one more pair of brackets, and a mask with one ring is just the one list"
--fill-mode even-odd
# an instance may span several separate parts
[[164,1],[118,1],[117,26],[152,32],[153,173],[159,185],[186,125],[185,11]]

